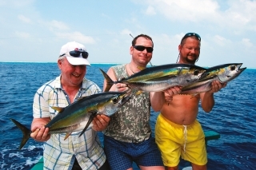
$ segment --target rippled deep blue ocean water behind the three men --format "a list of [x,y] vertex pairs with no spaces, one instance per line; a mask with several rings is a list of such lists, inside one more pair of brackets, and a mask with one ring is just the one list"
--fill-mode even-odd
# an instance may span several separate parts
[[[224,63],[223,63],[224,64]],[[86,77],[102,88],[103,76],[110,64],[88,67]],[[246,66],[246,65],[244,65]],[[42,156],[42,143],[28,140],[18,150],[22,132],[10,118],[30,127],[36,90],[59,75],[56,63],[0,62],[0,169],[30,169]],[[198,121],[204,130],[214,130],[220,139],[208,141],[208,169],[256,169],[256,69],[246,69],[215,93],[214,109],[199,109]],[[158,113],[151,111],[153,128]],[[98,133],[102,140],[102,133]],[[190,164],[182,161],[180,169]]]

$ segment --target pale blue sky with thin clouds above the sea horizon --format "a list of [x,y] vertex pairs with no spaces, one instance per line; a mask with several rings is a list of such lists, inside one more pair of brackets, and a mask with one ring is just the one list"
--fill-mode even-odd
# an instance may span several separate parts
[[184,34],[202,38],[196,65],[256,68],[255,0],[0,0],[0,61],[56,62],[66,42],[90,63],[130,62],[133,36],[154,41],[151,63],[174,63]]

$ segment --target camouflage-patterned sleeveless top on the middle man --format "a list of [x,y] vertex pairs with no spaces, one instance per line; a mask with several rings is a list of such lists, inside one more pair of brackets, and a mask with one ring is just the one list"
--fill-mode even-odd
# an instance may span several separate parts
[[[116,65],[111,68],[114,69],[117,80],[129,77],[126,65]],[[136,91],[132,90],[130,101],[123,105],[118,113],[111,116],[104,134],[115,140],[138,143],[147,140],[150,133],[150,94],[148,92],[136,94]]]

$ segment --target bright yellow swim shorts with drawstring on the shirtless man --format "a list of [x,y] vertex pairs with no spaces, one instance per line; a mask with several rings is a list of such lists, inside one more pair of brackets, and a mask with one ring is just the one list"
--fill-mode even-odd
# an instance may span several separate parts
[[207,163],[205,135],[200,123],[177,125],[160,113],[155,125],[155,140],[165,166],[178,166],[180,156],[193,164]]

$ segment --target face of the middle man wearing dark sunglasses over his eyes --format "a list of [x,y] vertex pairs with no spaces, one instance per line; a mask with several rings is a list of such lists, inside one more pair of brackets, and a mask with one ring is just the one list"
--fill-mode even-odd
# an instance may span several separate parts
[[[139,37],[136,41],[135,45],[142,45],[145,47],[153,47],[153,43],[150,39]],[[132,60],[139,66],[146,67],[146,65],[150,62],[152,58],[152,53],[147,52],[146,49],[140,51],[135,49],[133,46],[130,47],[130,55],[132,56]]]

